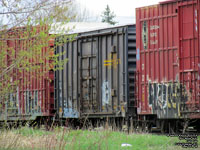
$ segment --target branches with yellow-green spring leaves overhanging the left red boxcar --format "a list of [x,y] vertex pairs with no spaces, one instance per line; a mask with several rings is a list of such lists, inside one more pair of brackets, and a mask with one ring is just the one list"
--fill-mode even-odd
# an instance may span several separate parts
[[[54,69],[52,66],[61,69],[67,61],[58,61],[58,55],[49,46],[49,41],[62,32],[50,35],[49,31],[58,20],[62,20],[61,24],[69,22],[65,12],[70,3],[70,0],[0,0],[0,112],[32,78],[40,80]],[[63,36],[55,45],[74,37]]]

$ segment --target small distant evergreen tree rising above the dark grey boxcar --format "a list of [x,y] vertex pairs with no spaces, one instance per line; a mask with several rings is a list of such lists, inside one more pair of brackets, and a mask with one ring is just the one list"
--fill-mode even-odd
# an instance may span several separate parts
[[114,21],[113,19],[116,17],[114,12],[111,12],[110,7],[107,5],[105,11],[101,15],[102,17],[102,22],[107,22],[111,25],[115,25],[117,22]]

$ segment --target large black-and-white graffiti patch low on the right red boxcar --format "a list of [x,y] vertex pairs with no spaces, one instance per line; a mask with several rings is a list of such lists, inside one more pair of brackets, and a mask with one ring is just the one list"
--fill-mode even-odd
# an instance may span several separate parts
[[180,83],[149,83],[149,106],[159,118],[180,116],[180,102],[187,102],[186,87]]

